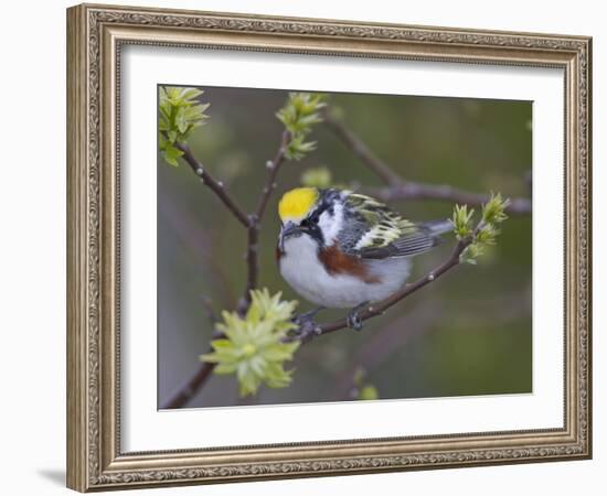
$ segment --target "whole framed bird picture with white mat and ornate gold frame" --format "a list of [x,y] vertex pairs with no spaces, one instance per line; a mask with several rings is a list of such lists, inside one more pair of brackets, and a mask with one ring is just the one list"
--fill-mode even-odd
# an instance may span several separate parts
[[586,36],[67,10],[67,485],[592,456]]

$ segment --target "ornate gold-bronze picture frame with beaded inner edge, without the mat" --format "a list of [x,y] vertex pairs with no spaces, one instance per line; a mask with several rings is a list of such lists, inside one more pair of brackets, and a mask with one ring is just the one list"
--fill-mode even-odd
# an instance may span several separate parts
[[[224,47],[565,73],[565,424],[430,438],[123,453],[119,88],[124,44]],[[77,490],[587,459],[590,438],[592,40],[109,6],[67,11],[67,485]]]

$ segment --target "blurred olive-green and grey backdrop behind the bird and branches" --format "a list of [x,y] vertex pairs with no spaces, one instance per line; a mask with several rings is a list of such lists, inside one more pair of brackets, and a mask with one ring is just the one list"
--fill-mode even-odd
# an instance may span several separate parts
[[[244,209],[257,204],[267,160],[283,131],[275,112],[287,91],[204,87],[211,117],[190,145]],[[343,122],[405,180],[468,191],[530,195],[532,105],[529,101],[331,94]],[[260,233],[260,287],[299,296],[275,262],[279,196],[301,174],[330,169],[339,184],[379,186],[377,177],[323,125],[318,149],[280,170]],[[450,217],[447,202],[396,202],[413,220]],[[292,385],[238,398],[235,377],[213,376],[188,407],[342,401],[356,397],[364,370],[382,399],[531,392],[531,215],[512,216],[478,266],[455,268],[439,281],[365,323],[302,346],[290,364]],[[452,236],[415,258],[415,278],[444,260]],[[212,328],[202,298],[234,309],[246,278],[246,233],[191,169],[158,160],[158,400],[162,405],[199,367]],[[299,310],[311,305],[300,300]],[[327,311],[319,320],[342,316]]]

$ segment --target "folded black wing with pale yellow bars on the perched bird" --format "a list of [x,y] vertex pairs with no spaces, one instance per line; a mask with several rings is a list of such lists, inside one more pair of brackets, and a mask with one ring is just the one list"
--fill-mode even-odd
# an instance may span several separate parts
[[440,234],[435,223],[415,224],[402,218],[386,205],[369,196],[358,193],[350,194],[345,205],[363,229],[356,229],[361,235],[350,247],[350,252],[366,259],[383,259],[388,257],[409,257],[435,247]]

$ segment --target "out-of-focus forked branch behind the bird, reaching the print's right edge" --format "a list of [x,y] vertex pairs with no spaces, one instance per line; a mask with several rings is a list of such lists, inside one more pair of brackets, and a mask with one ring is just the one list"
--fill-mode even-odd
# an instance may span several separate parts
[[[375,157],[368,145],[343,122],[332,117],[330,112],[323,115],[324,123],[334,134],[340,138],[352,152],[375,174],[386,183],[383,187],[366,187],[362,192],[374,196],[382,202],[394,202],[397,200],[437,200],[451,203],[480,206],[489,200],[489,195],[471,193],[457,187],[426,184],[406,181],[395,173],[392,168]],[[531,200],[511,198],[507,213],[525,215],[531,213]]]

